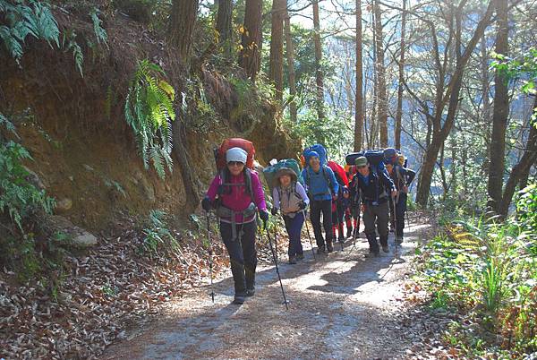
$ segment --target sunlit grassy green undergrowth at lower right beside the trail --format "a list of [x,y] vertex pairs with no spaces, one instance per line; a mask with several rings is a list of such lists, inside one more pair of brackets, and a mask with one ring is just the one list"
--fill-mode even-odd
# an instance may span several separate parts
[[461,315],[445,340],[465,356],[537,351],[536,204],[532,185],[520,194],[516,216],[449,219],[421,249],[430,306]]

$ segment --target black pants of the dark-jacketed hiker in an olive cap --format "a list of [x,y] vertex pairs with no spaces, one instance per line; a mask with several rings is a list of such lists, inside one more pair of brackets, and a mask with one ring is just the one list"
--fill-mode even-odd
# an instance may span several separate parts
[[371,253],[379,253],[377,243],[377,233],[379,231],[379,241],[382,246],[388,246],[388,201],[373,205],[371,202],[364,204],[363,225],[365,226],[365,236],[370,244]]

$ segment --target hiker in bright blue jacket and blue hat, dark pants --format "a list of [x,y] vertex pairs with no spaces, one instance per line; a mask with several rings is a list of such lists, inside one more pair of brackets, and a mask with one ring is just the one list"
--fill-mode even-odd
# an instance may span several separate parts
[[325,252],[325,239],[322,237],[320,227],[320,214],[326,236],[326,250],[328,253],[334,251],[332,237],[332,201],[337,200],[339,185],[332,169],[320,162],[317,151],[308,152],[306,163],[308,167],[303,169],[303,179],[306,184],[306,191],[310,197],[310,220],[317,243],[317,253]]

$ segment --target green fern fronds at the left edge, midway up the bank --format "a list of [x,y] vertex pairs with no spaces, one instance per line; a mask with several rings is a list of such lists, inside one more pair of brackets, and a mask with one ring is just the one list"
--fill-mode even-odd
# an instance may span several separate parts
[[[0,124],[14,132],[14,126],[0,114]],[[30,153],[15,141],[0,142],[0,212],[8,214],[18,229],[23,232],[23,219],[36,208],[52,212],[55,201],[44,190],[38,189],[27,179],[28,170],[23,161],[32,160]]]

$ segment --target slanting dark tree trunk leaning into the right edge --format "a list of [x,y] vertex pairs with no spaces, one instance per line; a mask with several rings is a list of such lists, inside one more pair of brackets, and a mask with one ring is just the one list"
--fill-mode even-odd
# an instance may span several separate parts
[[[533,99],[533,112],[537,111],[537,96]],[[528,141],[524,150],[524,155],[518,161],[511,174],[507,179],[506,188],[504,190],[501,202],[499,204],[499,215],[506,218],[509,210],[509,205],[513,200],[513,194],[515,193],[516,184],[518,184],[526,174],[529,173],[530,168],[537,162],[537,129],[530,123],[530,133],[528,135]]]

